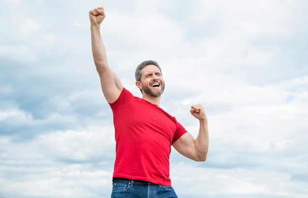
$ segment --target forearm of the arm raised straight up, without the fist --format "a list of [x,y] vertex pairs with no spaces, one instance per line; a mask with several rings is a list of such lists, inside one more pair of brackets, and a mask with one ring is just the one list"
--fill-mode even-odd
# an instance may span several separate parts
[[108,69],[109,66],[107,61],[106,49],[101,38],[100,25],[91,24],[91,42],[94,63],[97,72],[101,74],[106,69]]

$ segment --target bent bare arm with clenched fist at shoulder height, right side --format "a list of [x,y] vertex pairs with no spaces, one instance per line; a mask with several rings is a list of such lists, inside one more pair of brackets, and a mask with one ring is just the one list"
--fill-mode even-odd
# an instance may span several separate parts
[[202,105],[191,106],[190,113],[199,120],[200,127],[196,140],[185,133],[173,143],[173,147],[185,157],[194,161],[205,161],[209,150],[208,119]]

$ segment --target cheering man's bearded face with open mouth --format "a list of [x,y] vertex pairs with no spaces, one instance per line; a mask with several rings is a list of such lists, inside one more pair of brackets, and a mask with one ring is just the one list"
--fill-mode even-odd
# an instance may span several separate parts
[[165,82],[155,65],[147,65],[141,69],[142,92],[152,97],[158,97],[165,89]]

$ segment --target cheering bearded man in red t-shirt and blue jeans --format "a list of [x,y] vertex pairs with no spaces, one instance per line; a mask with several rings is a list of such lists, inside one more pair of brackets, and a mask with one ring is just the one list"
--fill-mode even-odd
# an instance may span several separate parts
[[201,105],[190,113],[200,122],[196,140],[159,107],[165,83],[160,66],[149,60],[138,65],[136,86],[142,98],[123,88],[111,70],[100,33],[102,7],[90,10],[92,54],[103,94],[114,118],[116,161],[112,198],[177,198],[169,178],[171,145],[182,155],[205,161],[209,147],[207,117]]

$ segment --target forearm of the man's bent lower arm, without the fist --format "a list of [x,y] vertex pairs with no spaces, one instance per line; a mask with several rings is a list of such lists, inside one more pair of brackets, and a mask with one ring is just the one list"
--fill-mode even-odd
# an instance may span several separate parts
[[206,120],[200,120],[199,134],[195,140],[195,149],[199,161],[205,161],[209,150],[209,131]]

